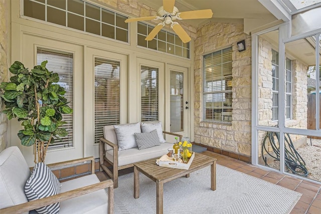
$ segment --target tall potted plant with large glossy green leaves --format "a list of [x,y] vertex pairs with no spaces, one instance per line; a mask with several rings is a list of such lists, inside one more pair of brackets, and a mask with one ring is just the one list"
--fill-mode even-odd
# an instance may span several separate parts
[[[35,163],[45,162],[46,152],[50,143],[68,135],[62,127],[62,114],[71,114],[64,97],[66,91],[59,84],[59,75],[48,71],[44,61],[29,71],[16,61],[9,68],[13,74],[10,82],[2,82],[1,99],[9,120],[18,118],[24,129],[18,132],[21,144],[34,145]],[[38,159],[37,159],[38,154]]]

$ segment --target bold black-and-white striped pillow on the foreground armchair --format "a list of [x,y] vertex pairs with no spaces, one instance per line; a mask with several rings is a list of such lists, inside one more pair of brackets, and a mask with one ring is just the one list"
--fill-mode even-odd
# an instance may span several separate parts
[[[25,185],[25,193],[29,201],[58,194],[61,184],[45,163],[37,163]],[[60,204],[54,203],[36,209],[38,213],[58,213]]]

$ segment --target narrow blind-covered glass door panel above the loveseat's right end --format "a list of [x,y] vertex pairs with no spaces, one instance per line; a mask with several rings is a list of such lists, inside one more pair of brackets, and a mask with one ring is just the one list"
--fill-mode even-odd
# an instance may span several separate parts
[[158,69],[140,68],[141,121],[158,121]]

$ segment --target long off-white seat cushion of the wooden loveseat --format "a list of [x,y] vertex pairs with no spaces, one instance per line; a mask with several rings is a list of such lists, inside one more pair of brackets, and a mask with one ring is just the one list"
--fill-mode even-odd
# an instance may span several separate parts
[[[118,151],[118,166],[124,166],[132,164],[142,160],[148,160],[151,158],[161,157],[168,153],[168,148],[173,148],[173,143],[165,142],[159,146],[153,146],[147,149],[139,150],[138,147],[127,150]],[[113,161],[113,151],[109,150],[105,152],[108,160]]]

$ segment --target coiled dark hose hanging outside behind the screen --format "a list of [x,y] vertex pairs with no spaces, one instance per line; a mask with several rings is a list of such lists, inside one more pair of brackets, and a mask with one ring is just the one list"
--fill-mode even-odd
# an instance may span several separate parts
[[[278,144],[274,142],[274,136],[277,138]],[[269,142],[266,141],[266,139],[269,139]],[[267,164],[266,157],[264,158],[264,150],[266,153],[273,157],[274,159],[280,161],[280,134],[278,132],[270,132],[268,131],[263,139],[263,144],[262,144],[262,158],[265,162],[266,166],[269,166]],[[272,148],[273,153],[267,149],[267,147],[270,146]],[[307,176],[308,171],[305,167],[305,161],[301,157],[301,155],[296,151],[296,149],[293,146],[292,140],[290,138],[289,134],[285,134],[284,136],[284,159],[285,159],[285,165],[289,170],[292,171],[292,173],[301,175],[301,176]],[[275,155],[274,155],[275,154]]]

